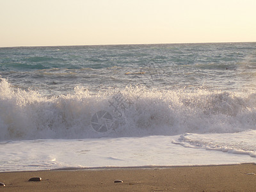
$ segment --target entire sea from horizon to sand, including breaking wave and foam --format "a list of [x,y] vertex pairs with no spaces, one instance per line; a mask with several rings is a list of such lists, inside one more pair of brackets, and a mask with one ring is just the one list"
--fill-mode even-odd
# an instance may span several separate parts
[[256,43],[0,48],[0,172],[256,163]]

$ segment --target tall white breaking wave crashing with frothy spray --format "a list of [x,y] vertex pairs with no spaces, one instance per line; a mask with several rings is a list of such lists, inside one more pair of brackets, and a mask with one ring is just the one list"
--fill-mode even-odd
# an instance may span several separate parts
[[[0,93],[0,140],[168,136],[256,129],[253,92],[159,92],[127,87],[95,94],[80,86],[72,94],[48,98],[31,90],[13,90],[2,79]],[[92,127],[92,116],[102,110],[113,117],[107,132]]]

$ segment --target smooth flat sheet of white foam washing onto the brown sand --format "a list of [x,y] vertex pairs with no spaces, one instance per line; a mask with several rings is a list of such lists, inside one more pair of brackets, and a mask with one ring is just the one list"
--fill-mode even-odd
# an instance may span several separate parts
[[[129,166],[256,163],[256,158],[175,145],[179,136],[0,143],[0,172]],[[224,141],[223,141],[224,142]]]

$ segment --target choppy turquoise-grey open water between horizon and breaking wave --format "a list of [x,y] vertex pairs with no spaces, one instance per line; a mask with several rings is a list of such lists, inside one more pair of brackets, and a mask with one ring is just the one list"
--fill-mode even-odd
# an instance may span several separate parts
[[[255,88],[255,43],[13,47],[0,49],[1,76],[48,95],[77,85],[99,92],[143,85],[159,90]],[[228,68],[228,70],[226,70]],[[125,72],[145,72],[125,76]]]

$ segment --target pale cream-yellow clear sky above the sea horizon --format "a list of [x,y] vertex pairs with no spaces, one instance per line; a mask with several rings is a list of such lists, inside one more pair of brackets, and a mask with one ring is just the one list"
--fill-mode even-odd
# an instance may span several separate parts
[[0,47],[256,42],[255,0],[0,0]]

